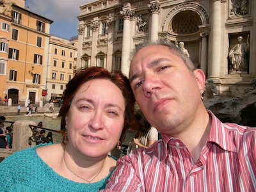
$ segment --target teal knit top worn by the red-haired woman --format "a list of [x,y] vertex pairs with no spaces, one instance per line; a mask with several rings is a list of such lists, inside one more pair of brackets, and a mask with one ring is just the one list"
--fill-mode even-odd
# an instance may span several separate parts
[[[52,145],[52,144],[43,144]],[[105,179],[94,183],[68,180],[54,172],[37,155],[35,147],[26,148],[6,157],[0,163],[0,191],[99,191],[105,188]]]

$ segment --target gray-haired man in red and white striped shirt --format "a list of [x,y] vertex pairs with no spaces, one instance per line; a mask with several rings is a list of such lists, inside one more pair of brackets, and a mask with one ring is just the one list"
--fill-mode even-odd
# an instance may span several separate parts
[[136,46],[130,83],[163,140],[118,159],[106,191],[255,191],[255,129],[223,124],[201,99],[205,75],[168,40]]

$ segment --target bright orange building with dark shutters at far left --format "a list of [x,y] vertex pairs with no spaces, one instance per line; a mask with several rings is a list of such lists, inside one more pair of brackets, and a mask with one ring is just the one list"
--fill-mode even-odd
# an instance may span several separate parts
[[0,74],[0,78],[4,79],[4,83],[0,84],[0,89],[3,90],[0,97],[7,95],[13,104],[26,105],[28,99],[31,104],[38,104],[40,100],[46,99],[42,93],[46,89],[52,20],[16,4],[10,4],[7,9],[8,12],[5,10],[2,14],[6,18],[10,17],[12,21],[9,21],[10,30],[5,31],[6,38],[0,39],[8,42],[8,60],[4,60],[6,52],[0,53],[0,60],[6,63],[3,75]]

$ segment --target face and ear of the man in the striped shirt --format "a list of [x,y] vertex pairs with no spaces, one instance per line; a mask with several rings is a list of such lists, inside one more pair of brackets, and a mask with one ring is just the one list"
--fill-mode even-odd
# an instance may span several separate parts
[[165,134],[178,134],[191,123],[201,102],[204,72],[193,72],[164,45],[140,49],[132,58],[131,88],[148,122]]

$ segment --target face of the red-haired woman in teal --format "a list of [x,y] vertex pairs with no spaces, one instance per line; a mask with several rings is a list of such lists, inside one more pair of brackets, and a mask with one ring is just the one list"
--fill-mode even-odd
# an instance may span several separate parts
[[65,118],[68,145],[88,157],[106,156],[124,127],[125,100],[108,79],[93,79],[77,91]]

